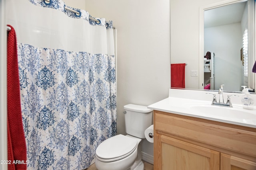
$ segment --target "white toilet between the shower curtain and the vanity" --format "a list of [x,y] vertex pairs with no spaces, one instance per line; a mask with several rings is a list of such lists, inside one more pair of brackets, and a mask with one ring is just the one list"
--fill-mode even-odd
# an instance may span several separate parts
[[98,146],[95,160],[98,170],[144,170],[140,141],[152,124],[152,109],[128,104],[124,110],[128,135],[110,137]]

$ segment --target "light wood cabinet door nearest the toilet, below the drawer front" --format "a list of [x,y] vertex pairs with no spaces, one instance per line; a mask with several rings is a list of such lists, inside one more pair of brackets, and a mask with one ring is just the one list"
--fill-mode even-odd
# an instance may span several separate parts
[[219,170],[220,152],[164,135],[156,136],[154,170]]

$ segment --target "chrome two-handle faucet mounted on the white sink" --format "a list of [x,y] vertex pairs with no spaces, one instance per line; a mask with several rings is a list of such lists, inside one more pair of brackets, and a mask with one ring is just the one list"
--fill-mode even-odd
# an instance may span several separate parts
[[216,94],[212,94],[212,93],[206,93],[206,94],[212,94],[212,95],[213,95],[212,105],[214,105],[214,106],[233,107],[232,104],[231,104],[230,96],[238,96],[238,95],[228,95],[227,102],[224,103],[224,98],[223,98],[223,86],[224,86],[224,84],[222,84],[222,85],[220,86],[220,89],[219,89],[219,91],[218,91],[218,94],[219,94],[219,102],[217,102],[217,100],[216,100]]

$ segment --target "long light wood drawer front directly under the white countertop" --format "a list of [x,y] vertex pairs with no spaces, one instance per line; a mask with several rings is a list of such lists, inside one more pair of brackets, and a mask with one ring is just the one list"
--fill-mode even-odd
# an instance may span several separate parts
[[[233,150],[238,153],[256,157],[256,132],[244,129],[232,128],[222,125],[215,125],[215,121],[199,118],[187,119],[186,116],[178,116],[159,111],[154,112],[154,128],[157,131],[170,133],[215,147]],[[254,129],[254,128],[251,128]]]

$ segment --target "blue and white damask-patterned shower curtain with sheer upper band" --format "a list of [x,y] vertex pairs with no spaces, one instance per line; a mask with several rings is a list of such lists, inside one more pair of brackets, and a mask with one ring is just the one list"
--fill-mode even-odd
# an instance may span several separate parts
[[[70,15],[61,0],[50,1],[50,6],[41,0],[30,2],[37,5],[36,10],[50,7],[64,12],[67,18],[82,19],[93,32],[99,27],[104,27],[103,32],[109,31],[105,25],[112,28],[112,22],[100,19],[101,24],[97,25],[88,20],[88,13],[83,10],[80,16]],[[15,28],[16,21],[13,24]],[[81,36],[84,34],[90,35]],[[92,46],[97,45],[94,41],[87,42],[88,51],[70,51],[55,48],[58,45],[51,48],[48,44],[38,47],[38,43],[26,43],[28,40],[24,43],[22,36],[18,38],[18,65],[28,170],[88,168],[97,146],[117,131],[115,56],[109,51],[95,53],[99,50]],[[101,36],[110,37],[109,33]],[[40,35],[34,39],[42,41]],[[82,42],[79,38],[75,41]]]

